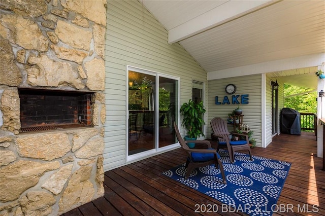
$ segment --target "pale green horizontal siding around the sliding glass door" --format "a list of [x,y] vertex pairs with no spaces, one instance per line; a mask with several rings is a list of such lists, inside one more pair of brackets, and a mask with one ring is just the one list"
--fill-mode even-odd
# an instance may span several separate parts
[[[180,78],[180,102],[192,97],[192,80],[207,73],[138,1],[108,1],[105,42],[106,122],[104,169],[126,164],[126,66]],[[183,132],[183,130],[181,130]]]

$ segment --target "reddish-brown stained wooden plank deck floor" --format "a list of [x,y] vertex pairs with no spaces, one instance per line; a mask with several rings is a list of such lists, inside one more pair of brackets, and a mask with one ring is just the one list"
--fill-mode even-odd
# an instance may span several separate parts
[[[313,133],[280,134],[267,148],[252,149],[252,154],[291,163],[277,202],[284,212],[273,215],[325,215],[325,171],[322,159],[316,157]],[[177,149],[107,171],[105,196],[64,215],[244,215],[222,212],[217,200],[161,174],[185,159]],[[218,211],[194,213],[196,204],[217,204]]]

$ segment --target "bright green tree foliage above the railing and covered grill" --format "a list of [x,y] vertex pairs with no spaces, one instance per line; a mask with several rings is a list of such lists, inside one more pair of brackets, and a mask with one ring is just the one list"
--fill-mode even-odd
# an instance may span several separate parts
[[[317,92],[310,92],[312,90],[313,89],[284,84],[284,107],[295,109],[300,113],[316,113]],[[309,93],[303,94],[304,92]],[[296,96],[288,97],[290,95]]]

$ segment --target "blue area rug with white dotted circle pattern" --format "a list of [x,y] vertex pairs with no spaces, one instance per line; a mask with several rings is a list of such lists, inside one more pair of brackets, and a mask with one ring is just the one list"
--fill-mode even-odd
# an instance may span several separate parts
[[223,203],[221,210],[224,212],[272,215],[278,209],[276,203],[291,164],[258,156],[252,156],[253,161],[250,161],[249,155],[238,152],[232,164],[228,151],[219,150],[219,154],[226,184],[222,183],[220,169],[216,169],[214,164],[194,169],[187,179],[184,178],[185,164],[163,174],[219,200]]

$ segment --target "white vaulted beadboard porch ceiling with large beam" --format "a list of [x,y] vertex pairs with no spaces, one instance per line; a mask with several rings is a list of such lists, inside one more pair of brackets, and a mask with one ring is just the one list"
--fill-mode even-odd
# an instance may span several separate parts
[[208,73],[325,52],[324,0],[139,2]]

